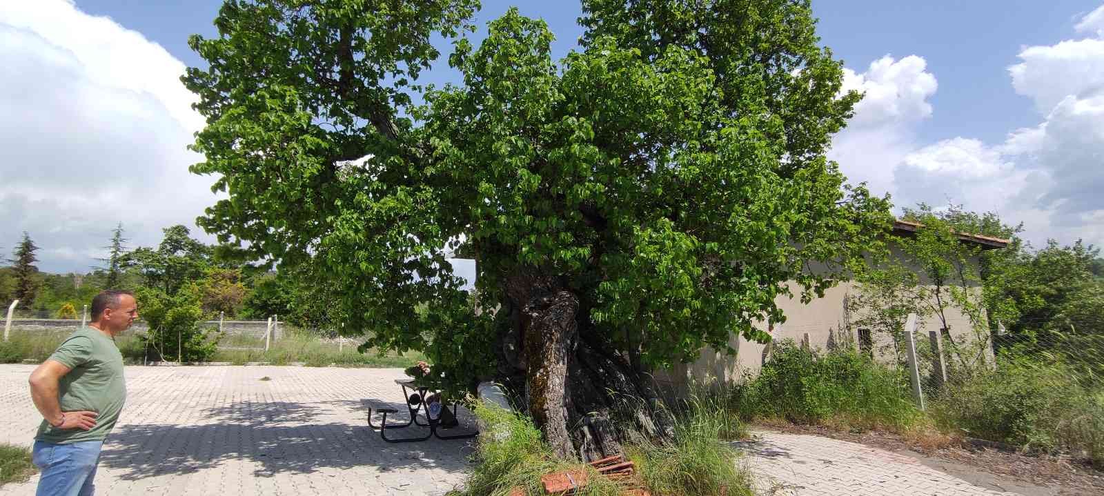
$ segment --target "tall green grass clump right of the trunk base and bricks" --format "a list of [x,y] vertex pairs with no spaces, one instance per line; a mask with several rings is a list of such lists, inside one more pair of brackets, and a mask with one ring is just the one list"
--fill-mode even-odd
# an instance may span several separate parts
[[668,444],[630,446],[644,485],[657,496],[752,495],[751,473],[737,461],[730,444],[745,435],[743,424],[723,409],[713,395],[696,393],[676,422],[675,440]]

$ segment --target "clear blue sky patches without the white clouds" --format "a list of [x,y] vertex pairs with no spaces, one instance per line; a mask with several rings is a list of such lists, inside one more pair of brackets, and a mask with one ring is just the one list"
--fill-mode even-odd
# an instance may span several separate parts
[[[211,21],[222,2],[77,0],[76,4],[141,32],[188,65],[201,65],[203,61],[188,48],[188,36],[213,36]],[[1007,67],[1020,49],[1069,38],[1079,14],[1100,4],[1098,0],[819,0],[814,10],[824,44],[849,66],[866,66],[887,54],[916,54],[927,61],[941,91],[930,98],[938,110],[922,126],[923,138],[970,134],[995,140],[1009,128],[1037,120],[1030,102],[1008,84]],[[512,6],[549,23],[556,34],[556,55],[566,54],[582,34],[575,23],[582,12],[572,1],[484,1],[478,25]],[[447,46],[438,48],[447,53]],[[450,75],[433,78],[454,81]]]

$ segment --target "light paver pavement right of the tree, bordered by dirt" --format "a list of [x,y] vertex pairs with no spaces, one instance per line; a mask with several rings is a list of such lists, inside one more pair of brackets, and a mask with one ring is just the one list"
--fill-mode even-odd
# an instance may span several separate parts
[[798,496],[1019,496],[974,486],[915,458],[846,441],[756,431],[746,450],[764,494]]

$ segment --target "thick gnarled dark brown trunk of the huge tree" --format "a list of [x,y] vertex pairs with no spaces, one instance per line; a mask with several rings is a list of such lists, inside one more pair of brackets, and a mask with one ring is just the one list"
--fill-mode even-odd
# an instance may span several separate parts
[[524,377],[521,404],[556,455],[592,461],[620,453],[626,441],[671,437],[651,377],[581,333],[588,326],[580,326],[586,316],[575,294],[533,274],[508,277],[507,294],[511,330],[500,352]]

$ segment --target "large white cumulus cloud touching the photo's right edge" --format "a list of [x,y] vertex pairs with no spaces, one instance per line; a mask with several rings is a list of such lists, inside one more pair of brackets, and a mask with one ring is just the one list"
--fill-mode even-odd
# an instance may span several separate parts
[[[1104,7],[1076,24],[1101,35]],[[1104,40],[1025,48],[1008,67],[1012,87],[1039,112],[1039,125],[1004,143],[955,138],[910,152],[893,171],[898,204],[962,202],[1023,221],[1047,238],[1104,243]],[[943,198],[937,198],[942,196]]]

